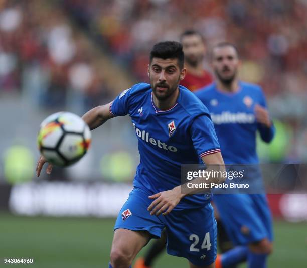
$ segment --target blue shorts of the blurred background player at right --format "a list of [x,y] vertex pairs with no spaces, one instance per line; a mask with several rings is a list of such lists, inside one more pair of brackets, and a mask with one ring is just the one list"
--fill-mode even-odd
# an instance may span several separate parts
[[236,245],[273,240],[272,218],[265,194],[215,194],[213,201],[228,236]]

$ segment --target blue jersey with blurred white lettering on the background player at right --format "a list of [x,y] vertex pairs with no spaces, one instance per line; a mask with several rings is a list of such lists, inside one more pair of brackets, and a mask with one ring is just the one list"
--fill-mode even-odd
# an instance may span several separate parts
[[225,93],[213,83],[195,94],[210,111],[225,164],[257,164],[256,131],[265,142],[275,132],[273,124],[267,128],[255,119],[255,105],[266,107],[261,87],[239,82],[237,92]]

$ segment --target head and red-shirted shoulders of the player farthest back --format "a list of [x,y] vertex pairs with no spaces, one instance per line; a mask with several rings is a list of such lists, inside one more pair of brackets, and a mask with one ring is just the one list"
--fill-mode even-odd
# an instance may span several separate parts
[[185,53],[187,74],[180,84],[192,92],[212,83],[211,74],[204,69],[206,45],[200,33],[187,30],[180,36]]

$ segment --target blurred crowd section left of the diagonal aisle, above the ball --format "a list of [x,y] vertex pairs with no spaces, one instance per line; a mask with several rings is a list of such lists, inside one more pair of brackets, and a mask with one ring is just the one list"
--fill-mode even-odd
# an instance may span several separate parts
[[0,2],[0,91],[81,113],[110,98],[97,53],[52,2]]

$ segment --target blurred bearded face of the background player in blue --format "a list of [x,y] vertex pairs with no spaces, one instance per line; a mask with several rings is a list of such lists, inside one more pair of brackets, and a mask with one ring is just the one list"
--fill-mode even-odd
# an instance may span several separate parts
[[239,63],[232,46],[216,47],[212,51],[212,69],[224,84],[230,84],[236,78]]

